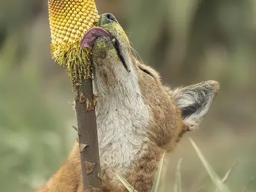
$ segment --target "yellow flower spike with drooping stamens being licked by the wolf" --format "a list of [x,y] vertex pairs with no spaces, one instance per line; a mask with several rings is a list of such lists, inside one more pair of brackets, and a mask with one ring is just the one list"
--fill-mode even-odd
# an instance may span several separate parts
[[94,0],[48,0],[52,58],[66,67],[77,90],[90,77],[90,50],[80,40],[93,23],[99,22]]

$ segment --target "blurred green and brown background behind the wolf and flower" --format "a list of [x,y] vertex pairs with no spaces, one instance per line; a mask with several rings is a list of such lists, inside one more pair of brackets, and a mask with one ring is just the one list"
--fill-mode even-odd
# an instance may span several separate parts
[[[99,13],[116,16],[164,83],[220,82],[200,129],[186,134],[170,155],[163,191],[172,191],[180,157],[183,191],[214,191],[188,137],[220,177],[241,159],[227,181],[241,191],[256,177],[256,1],[95,1]],[[46,0],[1,2],[0,191],[43,184],[76,140],[74,95],[65,70],[51,59],[50,42]],[[256,191],[256,180],[247,191]]]

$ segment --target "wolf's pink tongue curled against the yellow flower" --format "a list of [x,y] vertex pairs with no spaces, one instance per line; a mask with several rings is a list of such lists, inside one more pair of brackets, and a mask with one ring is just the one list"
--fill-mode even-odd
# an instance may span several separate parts
[[93,27],[86,31],[86,33],[84,34],[83,38],[81,39],[81,47],[87,47],[88,49],[92,50],[94,40],[98,37],[104,36],[109,37],[111,39],[113,38],[105,29]]

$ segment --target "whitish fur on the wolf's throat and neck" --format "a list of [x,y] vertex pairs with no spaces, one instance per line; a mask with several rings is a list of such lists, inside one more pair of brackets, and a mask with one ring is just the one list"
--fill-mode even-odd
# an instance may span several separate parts
[[120,68],[114,70],[117,71],[115,86],[109,86],[108,93],[102,92],[97,72],[94,77],[93,90],[100,95],[96,108],[99,152],[104,161],[125,175],[128,166],[138,157],[141,145],[147,141],[150,113],[141,97],[134,69],[125,76],[118,73]]

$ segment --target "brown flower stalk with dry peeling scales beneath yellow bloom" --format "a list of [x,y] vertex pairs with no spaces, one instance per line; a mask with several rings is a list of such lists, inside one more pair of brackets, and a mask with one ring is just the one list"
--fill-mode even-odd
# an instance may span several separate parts
[[[92,79],[82,82],[76,98],[79,148],[84,191],[101,191],[99,145]],[[94,101],[95,102],[95,101]]]

